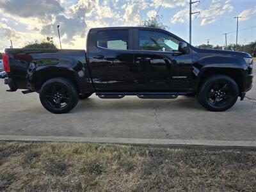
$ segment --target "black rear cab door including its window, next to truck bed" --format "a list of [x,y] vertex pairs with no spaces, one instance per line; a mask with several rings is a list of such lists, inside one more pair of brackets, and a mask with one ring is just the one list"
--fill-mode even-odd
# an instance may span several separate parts
[[134,85],[132,29],[97,29],[87,47],[92,81],[97,90],[129,91]]

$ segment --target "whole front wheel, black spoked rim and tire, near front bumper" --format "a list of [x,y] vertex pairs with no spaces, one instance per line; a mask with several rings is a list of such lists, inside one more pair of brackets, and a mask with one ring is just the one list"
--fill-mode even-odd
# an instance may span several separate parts
[[197,99],[209,111],[226,111],[234,106],[239,95],[239,88],[234,79],[223,76],[211,76],[204,81]]

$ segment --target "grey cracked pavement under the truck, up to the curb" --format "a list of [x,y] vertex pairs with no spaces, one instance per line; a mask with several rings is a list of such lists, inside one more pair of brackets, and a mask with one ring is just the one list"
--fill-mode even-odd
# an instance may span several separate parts
[[38,94],[5,92],[0,80],[0,135],[256,141],[256,84],[228,111],[205,110],[195,98],[80,100],[54,115]]

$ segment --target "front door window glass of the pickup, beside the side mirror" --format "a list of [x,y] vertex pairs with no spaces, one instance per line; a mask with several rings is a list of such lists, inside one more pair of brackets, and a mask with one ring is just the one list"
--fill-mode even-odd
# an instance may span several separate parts
[[140,50],[178,51],[179,40],[157,31],[140,31]]

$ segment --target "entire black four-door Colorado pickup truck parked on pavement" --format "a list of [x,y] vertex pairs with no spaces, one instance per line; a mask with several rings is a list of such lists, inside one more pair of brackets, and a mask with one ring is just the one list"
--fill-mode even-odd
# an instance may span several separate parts
[[205,108],[225,111],[253,81],[250,54],[198,49],[156,28],[90,29],[86,51],[5,49],[3,60],[8,91],[39,93],[52,113],[67,113],[92,93],[102,99],[196,95]]

